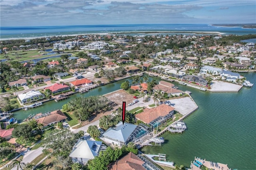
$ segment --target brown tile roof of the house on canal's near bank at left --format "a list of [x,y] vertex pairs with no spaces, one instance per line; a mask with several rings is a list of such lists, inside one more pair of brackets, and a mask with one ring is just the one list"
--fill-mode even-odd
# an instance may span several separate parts
[[62,113],[62,111],[57,110],[57,111],[51,112],[51,115],[49,115],[49,116],[36,119],[36,121],[37,121],[37,123],[42,123],[44,126],[47,126],[47,125],[62,121],[67,118],[68,117],[66,117],[66,115],[64,115],[64,113]]

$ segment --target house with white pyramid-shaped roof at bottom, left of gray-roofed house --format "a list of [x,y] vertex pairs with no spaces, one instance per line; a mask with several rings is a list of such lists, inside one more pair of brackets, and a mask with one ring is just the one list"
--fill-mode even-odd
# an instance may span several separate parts
[[99,156],[100,151],[104,151],[106,148],[102,141],[79,139],[69,157],[74,163],[87,164],[88,160]]

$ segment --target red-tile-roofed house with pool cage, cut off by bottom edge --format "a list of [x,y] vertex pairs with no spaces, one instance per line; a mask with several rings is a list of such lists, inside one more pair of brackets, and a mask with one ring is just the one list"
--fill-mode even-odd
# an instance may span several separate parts
[[160,170],[156,166],[152,165],[152,163],[148,160],[141,156],[140,158],[134,153],[130,152],[121,159],[116,160],[116,162],[110,164],[108,170],[149,170],[152,168],[154,168],[154,170]]

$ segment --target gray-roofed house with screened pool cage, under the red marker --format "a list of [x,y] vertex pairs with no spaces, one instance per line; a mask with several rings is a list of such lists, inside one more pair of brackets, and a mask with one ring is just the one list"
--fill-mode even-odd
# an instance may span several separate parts
[[119,122],[116,127],[108,128],[104,134],[104,141],[117,146],[127,145],[129,142],[139,140],[148,134],[148,130],[140,125]]

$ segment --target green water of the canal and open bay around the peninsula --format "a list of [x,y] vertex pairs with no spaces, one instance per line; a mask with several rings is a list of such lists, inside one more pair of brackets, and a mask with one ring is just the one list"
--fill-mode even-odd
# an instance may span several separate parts
[[[203,92],[174,82],[180,90],[192,92],[191,96],[199,108],[184,120],[188,127],[185,132],[165,132],[162,136],[166,142],[162,146],[146,146],[142,148],[142,152],[166,154],[168,160],[187,167],[194,156],[197,156],[228,164],[232,169],[256,169],[256,74],[241,75],[254,83],[254,86],[243,87],[238,93]],[[21,122],[30,114],[61,109],[62,105],[75,97],[104,95],[120,89],[120,85],[126,80],[131,82],[132,78],[97,87],[88,93],[77,93],[64,101],[50,101],[28,111],[16,111],[14,117]]]

